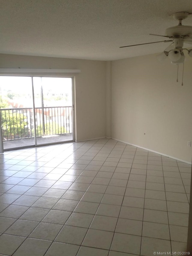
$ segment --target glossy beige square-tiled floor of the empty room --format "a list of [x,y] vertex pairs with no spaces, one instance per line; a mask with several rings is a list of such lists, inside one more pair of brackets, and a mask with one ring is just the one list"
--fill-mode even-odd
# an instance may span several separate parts
[[0,255],[185,251],[191,166],[100,139],[0,155]]

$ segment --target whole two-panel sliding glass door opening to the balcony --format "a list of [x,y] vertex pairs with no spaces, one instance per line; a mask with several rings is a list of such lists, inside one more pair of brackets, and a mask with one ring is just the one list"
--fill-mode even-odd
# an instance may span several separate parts
[[72,78],[0,76],[4,149],[73,140]]

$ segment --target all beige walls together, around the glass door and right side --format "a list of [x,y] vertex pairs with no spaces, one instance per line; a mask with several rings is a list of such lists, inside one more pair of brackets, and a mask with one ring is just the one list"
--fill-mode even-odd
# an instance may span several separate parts
[[176,83],[177,66],[168,60],[159,63],[155,55],[103,62],[0,54],[0,68],[80,69],[81,73],[74,74],[78,141],[111,135],[191,162],[192,147],[187,146],[192,141],[189,58],[184,86],[182,66]]

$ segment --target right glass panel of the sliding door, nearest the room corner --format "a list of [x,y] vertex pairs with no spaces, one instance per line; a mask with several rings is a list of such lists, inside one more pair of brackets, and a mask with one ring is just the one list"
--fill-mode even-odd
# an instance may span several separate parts
[[33,77],[37,145],[73,140],[72,79]]

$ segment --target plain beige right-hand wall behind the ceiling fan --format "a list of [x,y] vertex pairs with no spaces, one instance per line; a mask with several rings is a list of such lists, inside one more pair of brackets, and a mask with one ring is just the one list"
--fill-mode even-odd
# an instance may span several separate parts
[[[177,66],[155,55],[112,62],[112,137],[191,162],[192,61]],[[145,135],[144,135],[145,133]]]

